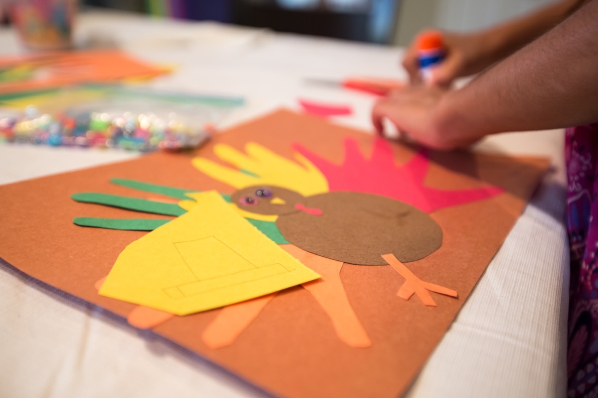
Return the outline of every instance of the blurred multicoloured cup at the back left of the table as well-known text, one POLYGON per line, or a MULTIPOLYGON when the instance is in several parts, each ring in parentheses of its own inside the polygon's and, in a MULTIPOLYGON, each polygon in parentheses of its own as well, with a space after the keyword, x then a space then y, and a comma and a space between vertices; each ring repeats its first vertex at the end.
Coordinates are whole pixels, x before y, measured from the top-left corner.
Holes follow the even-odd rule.
POLYGON ((29 50, 66 50, 73 45, 77 0, 14 0, 13 24, 29 50))

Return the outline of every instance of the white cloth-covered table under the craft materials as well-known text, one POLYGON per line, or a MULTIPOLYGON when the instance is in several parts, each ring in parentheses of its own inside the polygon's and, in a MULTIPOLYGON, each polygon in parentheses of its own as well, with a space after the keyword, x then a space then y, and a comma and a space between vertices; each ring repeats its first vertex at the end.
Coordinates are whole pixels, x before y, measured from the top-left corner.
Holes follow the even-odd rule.
MULTIPOLYGON (((176 66, 152 87, 245 97, 247 106, 222 127, 281 106, 298 109, 297 98, 307 98, 350 104, 354 115, 332 121, 371 131, 372 97, 309 85, 306 79, 405 77, 398 48, 216 23, 87 11, 79 18, 77 41, 89 38, 176 66)), ((14 32, 0 30, 0 53, 19 51, 14 32)), ((408 396, 565 395, 569 267, 562 141, 562 131, 544 131, 498 135, 479 145, 492 152, 551 156, 553 170, 408 396)), ((0 184, 132 156, 0 145, 0 184)), ((0 266, 0 302, 2 397, 263 396, 196 355, 65 299, 11 267, 0 266)))

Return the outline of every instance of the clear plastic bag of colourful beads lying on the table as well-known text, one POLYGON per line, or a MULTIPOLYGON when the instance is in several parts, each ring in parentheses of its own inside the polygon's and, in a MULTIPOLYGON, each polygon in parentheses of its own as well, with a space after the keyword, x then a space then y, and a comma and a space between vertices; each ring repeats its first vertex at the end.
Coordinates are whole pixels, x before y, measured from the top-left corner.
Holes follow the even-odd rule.
POLYGON ((0 96, 0 141, 148 152, 197 147, 242 98, 85 85, 0 96))

